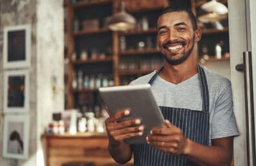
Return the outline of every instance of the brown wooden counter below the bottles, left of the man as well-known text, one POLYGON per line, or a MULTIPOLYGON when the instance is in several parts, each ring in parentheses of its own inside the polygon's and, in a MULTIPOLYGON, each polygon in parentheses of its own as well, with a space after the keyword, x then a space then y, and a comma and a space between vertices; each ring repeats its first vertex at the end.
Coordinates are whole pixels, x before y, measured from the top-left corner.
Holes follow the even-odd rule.
POLYGON ((42 141, 47 166, 118 165, 107 151, 106 133, 43 134, 42 141))

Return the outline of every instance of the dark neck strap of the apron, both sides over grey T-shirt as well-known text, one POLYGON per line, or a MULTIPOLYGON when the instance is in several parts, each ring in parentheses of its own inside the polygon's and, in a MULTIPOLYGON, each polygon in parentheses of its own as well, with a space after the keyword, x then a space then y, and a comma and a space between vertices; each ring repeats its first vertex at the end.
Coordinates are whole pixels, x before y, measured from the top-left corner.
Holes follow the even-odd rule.
MULTIPOLYGON (((158 71, 156 71, 155 75, 151 77, 148 84, 151 84, 152 86, 156 76, 158 75, 158 73, 160 73, 160 71, 162 71, 163 68, 164 66, 162 66, 158 71)), ((208 112, 209 111, 209 90, 208 90, 208 84, 206 80, 206 73, 204 73, 204 69, 198 64, 197 64, 197 70, 199 73, 199 80, 200 80, 200 86, 201 86, 202 111, 208 112)))

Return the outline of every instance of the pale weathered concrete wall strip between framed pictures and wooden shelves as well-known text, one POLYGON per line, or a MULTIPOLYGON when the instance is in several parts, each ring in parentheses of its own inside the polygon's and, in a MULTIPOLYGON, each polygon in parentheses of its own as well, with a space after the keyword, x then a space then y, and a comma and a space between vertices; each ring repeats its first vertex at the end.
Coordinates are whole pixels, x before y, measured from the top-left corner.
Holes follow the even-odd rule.
POLYGON ((43 165, 41 133, 51 113, 64 110, 63 21, 61 0, 37 0, 37 166, 43 165))

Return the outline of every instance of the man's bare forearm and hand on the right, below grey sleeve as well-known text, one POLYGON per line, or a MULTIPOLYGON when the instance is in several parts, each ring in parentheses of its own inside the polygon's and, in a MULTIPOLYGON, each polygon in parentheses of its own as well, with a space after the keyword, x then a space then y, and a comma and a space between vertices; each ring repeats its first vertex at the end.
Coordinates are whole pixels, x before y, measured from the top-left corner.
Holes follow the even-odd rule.
POLYGON ((185 154, 198 165, 229 166, 233 154, 233 137, 212 140, 211 146, 200 145, 184 137, 181 129, 165 121, 147 136, 147 141, 156 149, 169 154, 185 154))

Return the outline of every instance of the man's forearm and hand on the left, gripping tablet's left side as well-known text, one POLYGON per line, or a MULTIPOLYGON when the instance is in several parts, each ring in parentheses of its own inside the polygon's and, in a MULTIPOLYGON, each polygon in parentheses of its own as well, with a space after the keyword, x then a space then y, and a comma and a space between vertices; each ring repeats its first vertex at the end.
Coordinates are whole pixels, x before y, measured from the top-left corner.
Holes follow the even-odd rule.
POLYGON ((129 116, 129 111, 118 111, 114 115, 105 120, 107 133, 109 136, 109 153, 112 158, 118 163, 126 163, 131 160, 133 149, 131 145, 123 142, 126 138, 134 136, 142 136, 144 126, 140 125, 138 119, 124 120, 120 119, 129 116))

